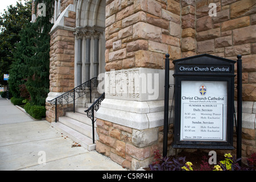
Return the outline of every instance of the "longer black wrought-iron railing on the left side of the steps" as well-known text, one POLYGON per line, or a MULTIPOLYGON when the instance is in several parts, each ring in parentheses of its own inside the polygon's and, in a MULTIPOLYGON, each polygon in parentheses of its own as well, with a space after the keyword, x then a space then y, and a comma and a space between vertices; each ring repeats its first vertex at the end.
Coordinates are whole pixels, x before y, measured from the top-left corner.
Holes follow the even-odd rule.
POLYGON ((59 97, 53 98, 53 100, 48 101, 52 106, 55 107, 55 122, 57 122, 57 109, 63 107, 69 103, 73 103, 73 112, 75 113, 75 100, 90 93, 90 102, 92 102, 92 90, 97 87, 98 80, 94 77, 83 84, 69 90, 68 92, 62 94, 59 97))

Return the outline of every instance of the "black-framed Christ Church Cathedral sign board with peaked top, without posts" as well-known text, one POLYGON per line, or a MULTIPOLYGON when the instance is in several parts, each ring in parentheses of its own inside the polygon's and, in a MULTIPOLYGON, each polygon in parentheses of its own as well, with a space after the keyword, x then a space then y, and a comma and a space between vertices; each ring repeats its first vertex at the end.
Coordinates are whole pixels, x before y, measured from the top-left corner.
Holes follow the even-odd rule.
POLYGON ((233 149, 234 63, 207 54, 174 61, 174 148, 233 149))

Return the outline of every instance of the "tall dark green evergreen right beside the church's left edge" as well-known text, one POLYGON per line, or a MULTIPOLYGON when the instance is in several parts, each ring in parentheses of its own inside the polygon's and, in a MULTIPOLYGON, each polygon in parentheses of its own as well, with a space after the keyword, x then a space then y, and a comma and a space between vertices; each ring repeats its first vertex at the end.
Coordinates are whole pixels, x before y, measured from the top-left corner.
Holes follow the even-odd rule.
POLYGON ((49 92, 49 31, 53 25, 54 1, 36 0, 35 7, 38 3, 46 5, 46 16, 38 16, 34 23, 28 22, 20 31, 21 39, 16 44, 9 84, 15 97, 30 98, 32 105, 44 106, 49 92))

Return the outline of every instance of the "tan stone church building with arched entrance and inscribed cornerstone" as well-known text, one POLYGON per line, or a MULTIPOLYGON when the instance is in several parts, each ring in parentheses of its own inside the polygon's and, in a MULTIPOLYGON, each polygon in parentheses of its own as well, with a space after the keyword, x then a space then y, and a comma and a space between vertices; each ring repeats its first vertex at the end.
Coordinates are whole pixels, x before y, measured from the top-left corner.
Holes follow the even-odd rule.
MULTIPOLYGON (((105 99, 95 111, 96 143, 90 146, 126 168, 145 167, 155 150, 163 150, 166 53, 171 60, 170 84, 172 60, 203 53, 237 60, 240 54, 242 156, 256 152, 254 0, 55 0, 53 23, 46 99, 46 119, 53 127, 63 133, 68 133, 67 127, 76 130, 72 125, 86 117, 84 110, 90 105, 87 94, 76 100, 76 113, 72 103, 61 107, 55 123, 55 106, 49 101, 98 77, 93 101, 103 92, 105 99)), ((172 95, 170 89, 170 105, 172 95)), ((75 135, 74 140, 83 144, 75 135)), ((171 143, 170 133, 168 154, 171 143)))

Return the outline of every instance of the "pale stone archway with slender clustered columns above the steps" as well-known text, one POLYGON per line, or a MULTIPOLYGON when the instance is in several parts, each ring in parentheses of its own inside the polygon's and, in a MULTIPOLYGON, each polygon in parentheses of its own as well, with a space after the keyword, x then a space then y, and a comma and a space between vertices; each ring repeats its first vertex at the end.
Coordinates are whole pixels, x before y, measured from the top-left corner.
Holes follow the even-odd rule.
POLYGON ((75 85, 105 72, 104 0, 76 3, 75 85))

